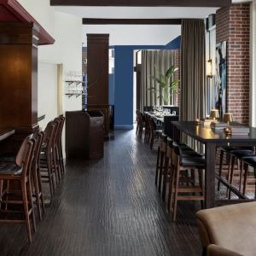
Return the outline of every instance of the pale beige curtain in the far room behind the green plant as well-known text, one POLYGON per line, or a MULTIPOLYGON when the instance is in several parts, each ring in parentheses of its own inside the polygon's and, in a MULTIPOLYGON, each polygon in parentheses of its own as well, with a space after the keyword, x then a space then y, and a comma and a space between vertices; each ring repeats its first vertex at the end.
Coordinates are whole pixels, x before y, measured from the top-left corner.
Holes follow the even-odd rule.
MULTIPOLYGON (((175 51, 174 50, 143 50, 142 51, 142 83, 141 83, 141 101, 140 107, 163 105, 160 85, 155 83, 150 76, 159 77, 156 70, 159 69, 161 73, 166 73, 169 67, 175 65, 175 51), (150 88, 155 88, 152 90, 150 88)), ((174 96, 170 97, 169 104, 173 104, 174 96)))

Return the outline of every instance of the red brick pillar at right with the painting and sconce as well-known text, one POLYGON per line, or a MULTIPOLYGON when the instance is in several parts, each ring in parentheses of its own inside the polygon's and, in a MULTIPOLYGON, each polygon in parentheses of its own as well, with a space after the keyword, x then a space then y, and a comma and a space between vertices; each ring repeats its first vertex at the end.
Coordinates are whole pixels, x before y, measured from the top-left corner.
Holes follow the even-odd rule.
POLYGON ((227 41, 227 111, 249 123, 250 5, 218 9, 216 42, 227 41))

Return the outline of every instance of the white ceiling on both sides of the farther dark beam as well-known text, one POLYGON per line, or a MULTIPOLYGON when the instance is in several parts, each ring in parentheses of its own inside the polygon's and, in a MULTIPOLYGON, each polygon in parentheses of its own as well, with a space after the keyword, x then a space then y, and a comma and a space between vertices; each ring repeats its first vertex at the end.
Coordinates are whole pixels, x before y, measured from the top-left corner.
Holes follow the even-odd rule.
MULTIPOLYGON (((244 0, 233 0, 241 1, 244 0)), ((217 8, 57 6, 55 10, 80 18, 203 19, 214 14, 217 8)), ((84 25, 82 33, 85 45, 86 33, 109 33, 110 45, 165 45, 180 35, 180 29, 170 25, 84 25)))

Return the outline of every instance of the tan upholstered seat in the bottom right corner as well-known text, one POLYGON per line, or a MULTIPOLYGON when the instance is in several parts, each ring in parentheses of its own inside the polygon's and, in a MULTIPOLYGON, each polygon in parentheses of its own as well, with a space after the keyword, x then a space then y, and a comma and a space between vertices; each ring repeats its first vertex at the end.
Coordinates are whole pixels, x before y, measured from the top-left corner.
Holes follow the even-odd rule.
POLYGON ((201 210, 196 217, 204 255, 256 255, 256 202, 201 210))

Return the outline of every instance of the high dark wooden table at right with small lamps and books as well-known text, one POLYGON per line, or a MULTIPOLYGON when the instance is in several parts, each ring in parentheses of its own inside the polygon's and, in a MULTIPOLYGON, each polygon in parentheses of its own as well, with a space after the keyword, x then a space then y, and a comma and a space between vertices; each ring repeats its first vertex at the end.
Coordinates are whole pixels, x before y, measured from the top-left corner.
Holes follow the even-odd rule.
MULTIPOLYGON (((256 145, 256 128, 249 127, 250 133, 245 136, 234 135, 226 136, 223 130, 213 131, 210 127, 197 125, 195 121, 177 121, 172 122, 172 125, 183 134, 194 138, 205 145, 205 207, 212 208, 216 206, 215 200, 215 178, 218 177, 216 173, 216 148, 218 147, 241 147, 241 146, 255 146, 256 145)), ((230 123, 232 125, 232 123, 230 123)), ((221 183, 224 183, 233 193, 238 195, 241 201, 246 201, 247 198, 234 187, 227 183, 224 178, 218 177, 221 183)), ((239 200, 238 200, 239 201, 239 200)), ((223 202, 218 201, 219 204, 223 202)))

